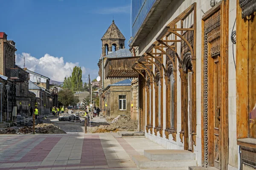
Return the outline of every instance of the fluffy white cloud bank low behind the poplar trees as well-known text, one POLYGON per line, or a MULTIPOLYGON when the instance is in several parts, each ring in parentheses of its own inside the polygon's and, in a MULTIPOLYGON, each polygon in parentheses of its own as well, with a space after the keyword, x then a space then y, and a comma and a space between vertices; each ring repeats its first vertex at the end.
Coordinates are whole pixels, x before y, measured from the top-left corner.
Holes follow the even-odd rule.
MULTIPOLYGON (((16 64, 23 67, 25 57, 25 65, 30 71, 42 74, 52 80, 63 82, 64 77, 71 76, 73 68, 79 66, 79 62, 64 62, 63 57, 53 57, 45 54, 44 57, 36 58, 28 53, 16 54, 16 64)), ((95 63, 96 65, 96 63, 95 63)), ((87 82, 85 78, 90 77, 94 79, 98 76, 98 70, 91 70, 81 66, 83 82, 87 82)))

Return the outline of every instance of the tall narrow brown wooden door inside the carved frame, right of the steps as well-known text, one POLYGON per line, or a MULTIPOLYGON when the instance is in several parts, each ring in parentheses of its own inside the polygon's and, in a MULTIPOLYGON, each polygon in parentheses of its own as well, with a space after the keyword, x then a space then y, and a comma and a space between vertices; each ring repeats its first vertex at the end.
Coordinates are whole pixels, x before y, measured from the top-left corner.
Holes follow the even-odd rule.
POLYGON ((220 120, 221 120, 221 70, 220 57, 213 57, 213 144, 214 144, 214 167, 220 168, 220 120))

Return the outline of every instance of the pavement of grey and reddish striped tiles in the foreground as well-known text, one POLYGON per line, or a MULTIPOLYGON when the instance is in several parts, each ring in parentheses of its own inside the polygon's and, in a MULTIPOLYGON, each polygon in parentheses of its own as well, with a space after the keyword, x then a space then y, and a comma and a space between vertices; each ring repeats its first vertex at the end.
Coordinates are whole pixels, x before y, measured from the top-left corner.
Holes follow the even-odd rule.
POLYGON ((0 170, 138 170, 144 149, 164 148, 116 133, 1 135, 0 170))

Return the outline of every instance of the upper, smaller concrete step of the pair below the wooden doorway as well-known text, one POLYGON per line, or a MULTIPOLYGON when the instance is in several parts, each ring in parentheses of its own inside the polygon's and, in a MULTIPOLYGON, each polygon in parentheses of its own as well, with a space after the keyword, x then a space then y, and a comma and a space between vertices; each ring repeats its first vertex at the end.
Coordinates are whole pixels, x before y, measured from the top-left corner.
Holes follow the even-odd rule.
POLYGON ((144 150, 144 156, 151 161, 195 160, 195 153, 188 150, 144 150))

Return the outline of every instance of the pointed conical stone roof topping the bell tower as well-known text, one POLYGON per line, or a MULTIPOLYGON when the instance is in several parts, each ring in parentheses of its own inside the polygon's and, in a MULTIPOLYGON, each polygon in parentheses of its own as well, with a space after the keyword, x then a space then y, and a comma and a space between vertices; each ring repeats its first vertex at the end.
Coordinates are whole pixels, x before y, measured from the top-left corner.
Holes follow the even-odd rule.
POLYGON ((119 28, 116 26, 114 20, 112 21, 112 24, 108 27, 108 30, 103 35, 101 40, 108 40, 108 39, 121 39, 125 40, 124 35, 121 33, 119 28))

